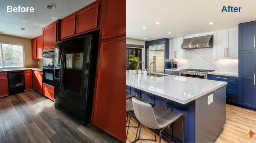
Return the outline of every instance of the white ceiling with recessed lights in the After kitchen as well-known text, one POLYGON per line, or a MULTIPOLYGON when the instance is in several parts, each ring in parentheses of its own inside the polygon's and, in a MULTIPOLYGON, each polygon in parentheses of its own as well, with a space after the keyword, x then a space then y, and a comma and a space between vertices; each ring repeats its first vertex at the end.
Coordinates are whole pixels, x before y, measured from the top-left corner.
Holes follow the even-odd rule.
POLYGON ((126 37, 152 40, 238 27, 256 20, 255 6, 256 0, 126 0, 126 37), (222 13, 229 5, 241 12, 222 13))

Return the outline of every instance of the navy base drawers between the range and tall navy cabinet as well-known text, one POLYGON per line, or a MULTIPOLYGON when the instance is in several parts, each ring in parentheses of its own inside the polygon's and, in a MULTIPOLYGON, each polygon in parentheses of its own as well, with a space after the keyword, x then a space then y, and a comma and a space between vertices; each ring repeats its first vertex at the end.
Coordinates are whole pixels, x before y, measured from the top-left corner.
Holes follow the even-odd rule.
POLYGON ((239 103, 239 85, 238 85, 238 77, 236 76, 222 76, 222 75, 212 75, 208 74, 208 79, 216 80, 216 81, 225 81, 227 82, 226 87, 226 101, 227 103, 239 103))

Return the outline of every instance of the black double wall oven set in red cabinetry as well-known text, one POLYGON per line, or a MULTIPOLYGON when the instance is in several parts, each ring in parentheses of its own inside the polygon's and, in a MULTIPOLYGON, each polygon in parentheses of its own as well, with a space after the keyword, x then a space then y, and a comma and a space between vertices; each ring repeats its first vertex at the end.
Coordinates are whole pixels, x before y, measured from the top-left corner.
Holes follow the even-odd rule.
POLYGON ((43 82, 54 86, 54 51, 43 53, 43 82))

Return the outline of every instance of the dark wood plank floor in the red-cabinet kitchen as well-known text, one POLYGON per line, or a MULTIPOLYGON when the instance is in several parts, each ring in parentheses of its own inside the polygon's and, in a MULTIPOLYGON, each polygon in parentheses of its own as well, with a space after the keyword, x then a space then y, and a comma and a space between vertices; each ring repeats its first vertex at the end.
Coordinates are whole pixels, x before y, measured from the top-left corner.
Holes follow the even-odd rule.
POLYGON ((0 98, 0 143, 121 143, 101 129, 55 109, 36 91, 0 98))

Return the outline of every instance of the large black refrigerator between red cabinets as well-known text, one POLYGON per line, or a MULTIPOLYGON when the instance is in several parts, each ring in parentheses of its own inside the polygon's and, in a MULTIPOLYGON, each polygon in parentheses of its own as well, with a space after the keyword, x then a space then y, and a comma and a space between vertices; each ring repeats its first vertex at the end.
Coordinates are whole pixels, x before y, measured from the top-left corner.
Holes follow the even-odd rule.
POLYGON ((98 43, 98 34, 55 43, 55 108, 83 125, 91 118, 98 43))

